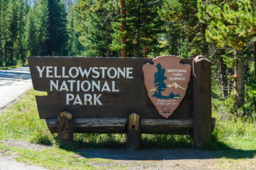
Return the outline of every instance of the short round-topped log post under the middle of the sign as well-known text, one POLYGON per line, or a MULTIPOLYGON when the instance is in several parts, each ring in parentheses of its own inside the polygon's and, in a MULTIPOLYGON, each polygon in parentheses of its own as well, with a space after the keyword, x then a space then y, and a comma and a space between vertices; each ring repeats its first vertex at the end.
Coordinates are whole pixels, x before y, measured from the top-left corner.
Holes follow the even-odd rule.
POLYGON ((141 120, 136 113, 132 113, 128 118, 127 148, 141 150, 141 120))

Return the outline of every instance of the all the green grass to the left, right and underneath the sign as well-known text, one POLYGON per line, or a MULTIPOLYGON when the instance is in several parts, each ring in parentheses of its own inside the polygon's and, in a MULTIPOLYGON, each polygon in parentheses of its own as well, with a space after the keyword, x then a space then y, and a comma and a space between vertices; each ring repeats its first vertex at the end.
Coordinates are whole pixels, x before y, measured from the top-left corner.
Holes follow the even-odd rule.
MULTIPOLYGON (((252 119, 244 120, 239 117, 241 110, 233 109, 232 97, 221 99, 218 89, 214 89, 213 93, 215 96, 213 95, 212 99, 212 115, 216 117, 216 127, 212 133, 212 141, 205 143, 204 149, 213 150, 214 157, 220 158, 220 168, 223 168, 223 164, 227 164, 228 169, 236 169, 241 167, 240 164, 243 162, 249 162, 248 164, 250 161, 256 162, 255 122, 252 119)), ((46 93, 30 90, 0 114, 0 140, 19 139, 51 145, 52 148, 34 151, 6 146, 0 142, 0 152, 10 150, 20 156, 16 158, 18 161, 49 169, 64 167, 94 169, 95 167, 90 165, 92 162, 111 162, 111 160, 86 158, 84 156, 86 153, 79 152, 81 148, 125 148, 126 134, 75 134, 74 148, 61 149, 56 134, 50 134, 45 121, 38 117, 35 95, 46 95, 46 93)), ((193 139, 189 134, 143 134, 142 146, 143 148, 193 148, 193 139)))

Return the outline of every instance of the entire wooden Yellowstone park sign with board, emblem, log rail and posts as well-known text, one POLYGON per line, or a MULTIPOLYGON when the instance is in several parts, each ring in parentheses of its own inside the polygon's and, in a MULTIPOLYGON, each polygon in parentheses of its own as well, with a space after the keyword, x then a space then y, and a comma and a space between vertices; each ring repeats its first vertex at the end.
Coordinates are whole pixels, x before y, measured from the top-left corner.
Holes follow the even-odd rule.
POLYGON ((205 57, 156 59, 28 57, 40 118, 63 143, 73 133, 127 132, 127 147, 141 148, 141 133, 193 132, 195 146, 211 139, 211 62, 205 57))

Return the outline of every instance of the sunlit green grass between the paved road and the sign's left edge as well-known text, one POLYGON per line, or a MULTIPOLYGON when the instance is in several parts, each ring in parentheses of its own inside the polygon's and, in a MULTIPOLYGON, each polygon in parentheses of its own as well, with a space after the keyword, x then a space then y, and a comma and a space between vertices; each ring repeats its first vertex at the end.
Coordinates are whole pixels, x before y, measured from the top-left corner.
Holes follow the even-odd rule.
POLYGON ((17 103, 3 110, 0 115, 0 139, 23 139, 31 141, 38 134, 49 134, 44 120, 38 118, 36 95, 44 92, 29 91, 17 103))

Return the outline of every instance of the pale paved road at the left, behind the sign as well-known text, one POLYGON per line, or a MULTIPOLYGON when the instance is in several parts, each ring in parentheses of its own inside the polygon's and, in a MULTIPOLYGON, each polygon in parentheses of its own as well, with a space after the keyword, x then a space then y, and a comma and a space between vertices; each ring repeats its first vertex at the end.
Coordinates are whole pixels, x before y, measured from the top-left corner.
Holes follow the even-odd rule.
POLYGON ((29 67, 0 71, 0 112, 32 88, 29 67))

